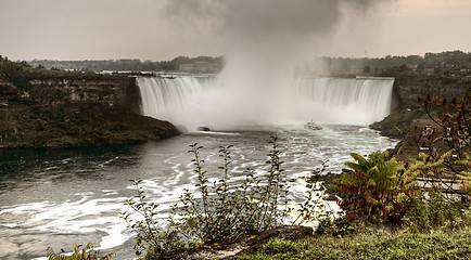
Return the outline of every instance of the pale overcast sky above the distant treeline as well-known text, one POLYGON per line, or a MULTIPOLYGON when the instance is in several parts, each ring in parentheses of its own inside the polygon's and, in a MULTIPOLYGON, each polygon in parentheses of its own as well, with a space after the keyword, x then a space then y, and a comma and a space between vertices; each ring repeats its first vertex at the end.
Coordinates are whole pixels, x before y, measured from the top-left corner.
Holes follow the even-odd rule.
POLYGON ((471 52, 470 25, 471 0, 0 0, 0 55, 162 61, 276 35, 306 55, 423 55, 471 52))

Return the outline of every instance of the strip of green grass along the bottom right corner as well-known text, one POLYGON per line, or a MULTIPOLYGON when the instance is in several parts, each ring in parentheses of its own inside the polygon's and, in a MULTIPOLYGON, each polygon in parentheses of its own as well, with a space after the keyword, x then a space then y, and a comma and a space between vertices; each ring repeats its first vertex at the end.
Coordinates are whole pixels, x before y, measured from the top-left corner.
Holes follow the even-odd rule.
POLYGON ((345 237, 270 240, 244 260, 264 259, 471 259, 471 226, 412 233, 362 231, 345 237))

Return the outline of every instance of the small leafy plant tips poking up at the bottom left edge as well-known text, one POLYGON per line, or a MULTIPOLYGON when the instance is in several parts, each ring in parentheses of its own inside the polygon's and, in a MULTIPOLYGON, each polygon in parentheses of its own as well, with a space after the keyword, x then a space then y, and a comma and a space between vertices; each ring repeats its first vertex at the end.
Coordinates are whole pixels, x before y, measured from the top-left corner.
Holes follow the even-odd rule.
MULTIPOLYGON (((55 253, 51 247, 46 250, 49 260, 109 260, 114 252, 107 253, 100 258, 100 250, 93 250, 93 244, 89 243, 85 247, 82 245, 75 244, 74 252, 71 256, 63 253, 55 253)), ((64 252, 63 249, 61 249, 64 252)))

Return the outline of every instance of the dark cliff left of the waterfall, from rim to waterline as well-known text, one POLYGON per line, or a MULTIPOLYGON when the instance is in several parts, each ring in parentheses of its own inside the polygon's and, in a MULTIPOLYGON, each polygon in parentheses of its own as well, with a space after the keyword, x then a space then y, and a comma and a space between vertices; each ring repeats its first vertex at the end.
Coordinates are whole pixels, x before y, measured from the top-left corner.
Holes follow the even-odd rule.
POLYGON ((0 147, 136 143, 179 134, 144 117, 136 79, 122 76, 0 79, 0 147))

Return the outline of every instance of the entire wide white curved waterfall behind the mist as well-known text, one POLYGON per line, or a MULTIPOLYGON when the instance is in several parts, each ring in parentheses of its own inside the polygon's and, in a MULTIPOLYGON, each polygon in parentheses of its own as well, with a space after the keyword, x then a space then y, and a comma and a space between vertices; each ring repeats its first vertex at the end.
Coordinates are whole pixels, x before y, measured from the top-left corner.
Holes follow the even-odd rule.
MULTIPOLYGON (((393 78, 297 77, 283 93, 247 96, 221 79, 181 76, 140 77, 142 114, 193 130, 253 125, 319 123, 365 126, 381 120, 391 109, 393 78), (257 102, 258 106, 250 103, 257 102), (266 106, 263 110, 257 107, 266 106)), ((251 94, 251 92, 249 92, 251 94)))

